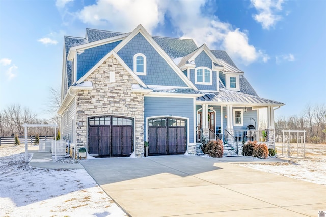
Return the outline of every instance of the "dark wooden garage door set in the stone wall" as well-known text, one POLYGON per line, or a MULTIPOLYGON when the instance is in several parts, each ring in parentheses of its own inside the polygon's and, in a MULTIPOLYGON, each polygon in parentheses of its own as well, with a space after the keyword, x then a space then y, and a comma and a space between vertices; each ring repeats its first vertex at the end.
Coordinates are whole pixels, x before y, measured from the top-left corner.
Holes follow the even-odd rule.
POLYGON ((133 118, 90 117, 88 126, 88 153, 92 156, 123 157, 133 152, 133 118))

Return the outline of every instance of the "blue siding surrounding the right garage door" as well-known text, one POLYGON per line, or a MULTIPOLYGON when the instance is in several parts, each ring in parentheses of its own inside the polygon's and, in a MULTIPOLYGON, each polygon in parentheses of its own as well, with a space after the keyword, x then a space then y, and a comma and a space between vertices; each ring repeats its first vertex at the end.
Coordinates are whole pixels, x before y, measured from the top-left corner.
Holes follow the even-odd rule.
POLYGON ((152 116, 180 116, 189 121, 189 143, 194 142, 194 101, 193 98, 145 97, 145 138, 147 138, 146 118, 152 116))

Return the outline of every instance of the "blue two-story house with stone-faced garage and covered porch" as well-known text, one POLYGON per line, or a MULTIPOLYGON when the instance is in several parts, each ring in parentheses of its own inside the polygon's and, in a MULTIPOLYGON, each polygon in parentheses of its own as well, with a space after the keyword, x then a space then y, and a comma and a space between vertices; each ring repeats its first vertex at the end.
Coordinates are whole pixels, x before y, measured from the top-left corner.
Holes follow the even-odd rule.
POLYGON ((274 110, 284 105, 259 97, 225 51, 142 25, 65 36, 61 93, 62 136, 99 157, 143 157, 144 141, 149 154, 196 154, 218 137, 236 153, 242 140, 273 146, 274 110), (260 108, 267 129, 258 130, 260 108))

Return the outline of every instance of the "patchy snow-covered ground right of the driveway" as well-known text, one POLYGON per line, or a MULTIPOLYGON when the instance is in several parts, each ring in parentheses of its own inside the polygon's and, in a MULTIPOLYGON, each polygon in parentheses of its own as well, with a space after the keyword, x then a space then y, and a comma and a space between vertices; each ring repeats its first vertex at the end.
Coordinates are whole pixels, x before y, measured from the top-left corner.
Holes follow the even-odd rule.
MULTIPOLYGON (((282 153, 282 144, 276 144, 276 148, 279 153, 282 153)), ((297 156, 296 154, 292 154, 291 158, 280 154, 278 154, 278 157, 288 159, 288 161, 240 165, 298 180, 326 185, 325 144, 306 144, 305 157, 297 156)))

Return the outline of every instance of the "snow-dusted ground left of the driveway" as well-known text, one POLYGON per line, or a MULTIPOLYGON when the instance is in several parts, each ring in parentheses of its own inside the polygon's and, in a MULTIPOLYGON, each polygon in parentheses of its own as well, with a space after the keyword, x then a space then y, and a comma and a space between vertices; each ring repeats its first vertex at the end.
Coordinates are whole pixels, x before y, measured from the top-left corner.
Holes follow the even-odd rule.
POLYGON ((127 216, 86 170, 31 167, 21 152, 0 146, 0 216, 127 216))

